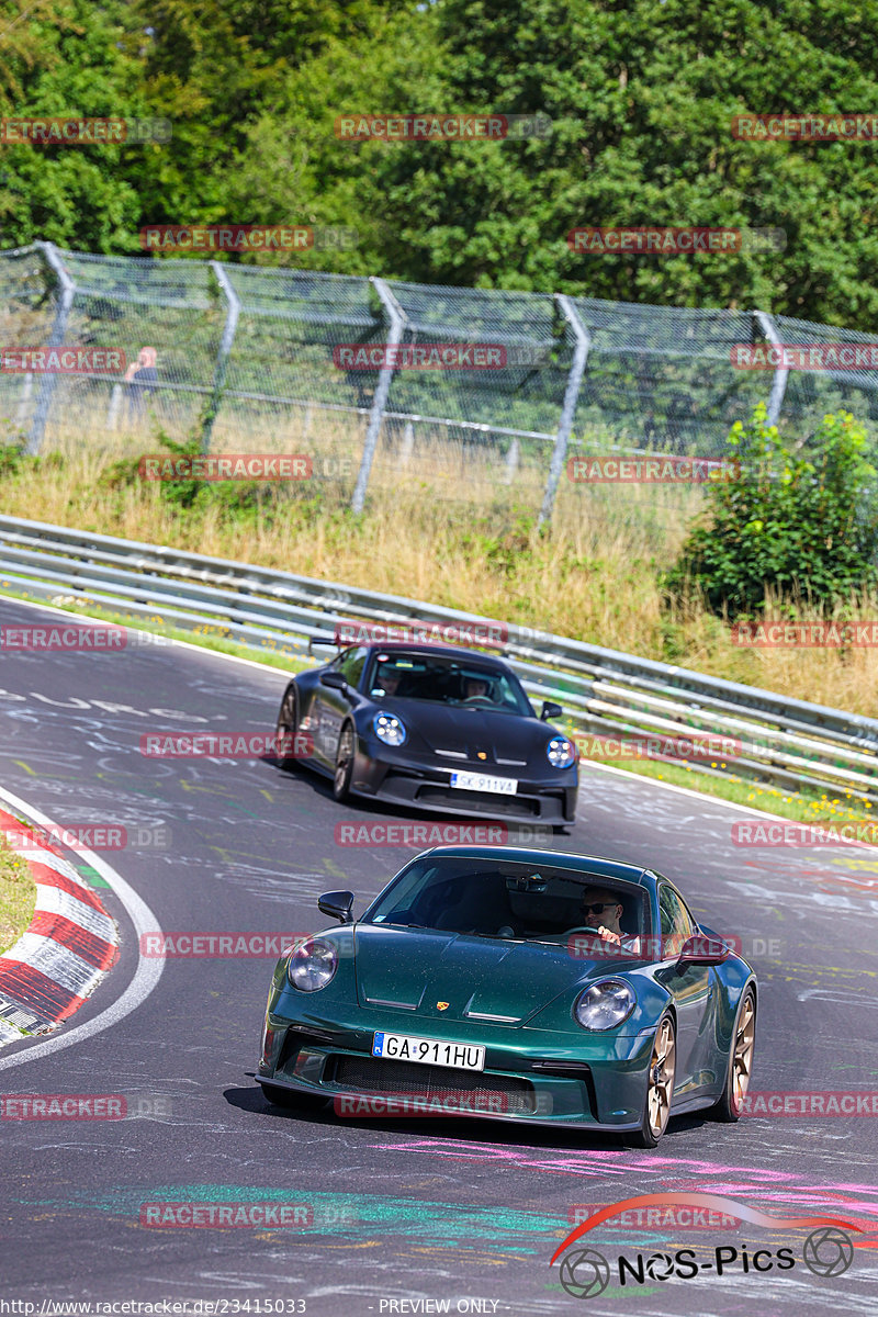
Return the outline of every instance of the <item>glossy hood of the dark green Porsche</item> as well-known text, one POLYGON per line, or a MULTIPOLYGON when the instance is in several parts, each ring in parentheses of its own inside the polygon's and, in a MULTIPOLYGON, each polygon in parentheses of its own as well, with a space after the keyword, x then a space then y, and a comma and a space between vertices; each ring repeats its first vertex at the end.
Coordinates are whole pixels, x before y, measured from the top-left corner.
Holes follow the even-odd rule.
POLYGON ((577 960, 566 947, 428 928, 357 925, 354 948, 362 1006, 428 1019, 523 1025, 561 993, 607 976, 606 960, 577 960))

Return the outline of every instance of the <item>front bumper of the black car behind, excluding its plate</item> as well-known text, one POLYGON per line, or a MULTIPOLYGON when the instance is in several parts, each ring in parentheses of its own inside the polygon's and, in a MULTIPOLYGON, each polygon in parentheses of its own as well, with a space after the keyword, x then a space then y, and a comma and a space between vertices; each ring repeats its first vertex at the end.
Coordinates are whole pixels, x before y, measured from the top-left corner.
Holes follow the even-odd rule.
POLYGON ((483 814, 492 819, 513 819, 524 823, 573 823, 577 814, 577 768, 567 768, 561 774, 546 772, 541 780, 517 778, 515 795, 502 795, 492 792, 462 792, 450 785, 450 774, 455 770, 471 773, 495 773, 512 777, 508 770, 500 772, 496 765, 486 763, 459 763, 440 768, 433 760, 405 759, 396 753, 394 759, 383 759, 371 745, 361 745, 354 765, 351 792, 355 795, 369 795, 391 805, 409 809, 429 810, 436 814, 467 815, 483 814), (369 753, 369 751, 373 753, 369 753))

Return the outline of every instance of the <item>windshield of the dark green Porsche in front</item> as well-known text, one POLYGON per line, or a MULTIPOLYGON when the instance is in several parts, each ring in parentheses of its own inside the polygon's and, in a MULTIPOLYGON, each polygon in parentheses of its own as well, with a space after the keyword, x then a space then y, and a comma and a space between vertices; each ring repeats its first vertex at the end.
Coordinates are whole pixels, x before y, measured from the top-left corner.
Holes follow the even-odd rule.
POLYGON ((648 938, 649 898, 636 884, 550 864, 425 856, 382 892, 363 922, 563 946, 573 930, 611 922, 619 905, 620 934, 648 938), (603 902, 612 913, 594 911, 603 902))

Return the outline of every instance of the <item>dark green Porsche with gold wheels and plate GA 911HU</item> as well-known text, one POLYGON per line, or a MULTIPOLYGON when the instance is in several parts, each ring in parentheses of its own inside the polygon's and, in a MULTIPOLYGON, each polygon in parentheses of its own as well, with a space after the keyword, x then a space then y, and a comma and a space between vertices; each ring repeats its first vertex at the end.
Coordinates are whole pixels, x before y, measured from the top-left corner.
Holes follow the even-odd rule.
POLYGON ((283 1106, 477 1114, 624 1134, 736 1121, 753 1064, 750 965, 673 882, 592 856, 442 847, 274 972, 257 1079, 283 1106))

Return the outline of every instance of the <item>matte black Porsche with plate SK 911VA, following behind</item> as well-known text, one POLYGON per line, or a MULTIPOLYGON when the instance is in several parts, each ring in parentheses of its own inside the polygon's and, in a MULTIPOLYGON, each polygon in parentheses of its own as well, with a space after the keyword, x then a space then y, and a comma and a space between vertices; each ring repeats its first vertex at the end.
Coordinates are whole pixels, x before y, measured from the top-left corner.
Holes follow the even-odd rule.
POLYGON ((296 676, 278 715, 278 760, 374 797, 442 814, 563 826, 577 809, 577 749, 536 715, 502 658, 453 645, 367 644, 296 676), (296 738, 307 745, 296 755, 296 738), (291 752, 294 751, 294 752, 291 752))

